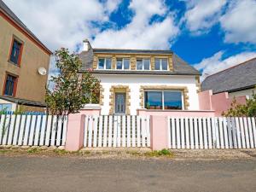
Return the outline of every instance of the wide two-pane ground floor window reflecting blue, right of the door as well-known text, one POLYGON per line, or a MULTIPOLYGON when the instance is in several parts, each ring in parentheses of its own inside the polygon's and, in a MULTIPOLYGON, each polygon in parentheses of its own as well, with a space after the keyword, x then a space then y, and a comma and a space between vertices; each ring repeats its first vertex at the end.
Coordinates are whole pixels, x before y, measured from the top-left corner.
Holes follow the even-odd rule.
POLYGON ((181 90, 146 90, 144 108, 183 109, 183 93, 181 90))

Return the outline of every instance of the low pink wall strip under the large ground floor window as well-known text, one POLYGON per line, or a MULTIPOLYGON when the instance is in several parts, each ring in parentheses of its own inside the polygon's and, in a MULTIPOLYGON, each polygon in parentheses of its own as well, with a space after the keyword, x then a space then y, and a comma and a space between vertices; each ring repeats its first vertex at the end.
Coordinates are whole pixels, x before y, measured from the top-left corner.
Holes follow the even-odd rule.
POLYGON ((212 110, 150 110, 137 109, 138 115, 157 115, 157 116, 172 116, 172 117, 214 117, 215 113, 212 110))

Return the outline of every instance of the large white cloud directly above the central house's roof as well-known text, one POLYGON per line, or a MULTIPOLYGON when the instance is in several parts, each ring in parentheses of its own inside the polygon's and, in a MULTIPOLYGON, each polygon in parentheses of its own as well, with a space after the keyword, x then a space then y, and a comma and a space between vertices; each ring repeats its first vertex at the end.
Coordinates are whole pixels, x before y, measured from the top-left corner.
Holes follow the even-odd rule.
POLYGON ((161 0, 131 1, 129 9, 134 12, 131 22, 120 30, 109 29, 96 34, 92 45, 105 48, 169 49, 179 32, 174 15, 167 13, 161 0), (161 21, 150 23, 158 15, 161 21))

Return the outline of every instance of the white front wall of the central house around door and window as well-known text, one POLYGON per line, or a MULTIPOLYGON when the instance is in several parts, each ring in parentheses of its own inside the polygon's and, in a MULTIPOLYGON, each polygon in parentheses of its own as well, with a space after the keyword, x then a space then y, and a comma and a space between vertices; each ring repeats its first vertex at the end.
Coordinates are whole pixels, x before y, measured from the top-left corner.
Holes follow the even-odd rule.
POLYGON ((104 100, 102 106, 102 114, 109 113, 109 96, 110 88, 112 85, 128 85, 131 89, 131 114, 137 114, 137 108, 140 108, 140 86, 142 85, 169 85, 169 86, 186 86, 189 90, 189 110, 198 110, 198 94, 196 90, 195 76, 159 76, 159 75, 95 75, 96 78, 101 80, 102 87, 104 88, 104 100))

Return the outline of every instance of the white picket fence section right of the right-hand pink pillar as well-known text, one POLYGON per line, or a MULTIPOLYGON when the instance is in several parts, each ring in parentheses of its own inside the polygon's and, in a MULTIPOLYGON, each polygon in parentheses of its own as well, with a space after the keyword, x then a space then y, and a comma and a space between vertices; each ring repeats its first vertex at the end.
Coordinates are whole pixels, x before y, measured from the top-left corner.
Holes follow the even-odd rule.
POLYGON ((255 118, 168 117, 169 148, 256 148, 255 118))

